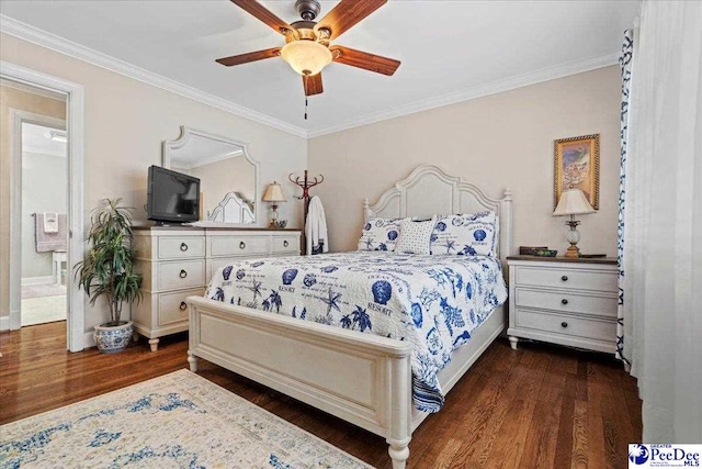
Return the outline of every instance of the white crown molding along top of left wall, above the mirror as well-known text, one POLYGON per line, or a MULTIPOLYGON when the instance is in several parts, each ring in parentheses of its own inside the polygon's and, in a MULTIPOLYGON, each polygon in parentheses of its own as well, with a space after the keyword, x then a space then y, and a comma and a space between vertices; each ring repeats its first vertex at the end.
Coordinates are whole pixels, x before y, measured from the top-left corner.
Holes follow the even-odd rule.
POLYGON ((18 21, 13 18, 0 14, 0 32, 18 37, 20 40, 39 45, 42 47, 56 51, 58 53, 78 58, 98 67, 124 75, 147 85, 160 88, 166 91, 192 99, 203 104, 217 108, 231 114, 249 119, 253 122, 278 129, 283 132, 306 138, 308 135, 305 129, 288 124, 270 115, 263 114, 240 104, 217 98, 196 88, 183 85, 161 75, 154 74, 144 68, 137 67, 118 58, 86 47, 65 37, 49 33, 38 27, 18 21))

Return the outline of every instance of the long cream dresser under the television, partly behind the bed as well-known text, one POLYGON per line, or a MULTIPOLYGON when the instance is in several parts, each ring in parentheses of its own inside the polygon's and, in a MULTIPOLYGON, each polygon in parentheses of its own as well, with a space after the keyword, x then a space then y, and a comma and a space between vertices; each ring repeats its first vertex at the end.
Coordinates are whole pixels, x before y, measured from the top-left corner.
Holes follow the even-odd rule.
POLYGON ((152 226, 134 228, 144 298, 132 308, 135 333, 159 337, 188 331, 185 299, 202 297, 219 267, 246 258, 298 256, 301 232, 267 228, 152 226))

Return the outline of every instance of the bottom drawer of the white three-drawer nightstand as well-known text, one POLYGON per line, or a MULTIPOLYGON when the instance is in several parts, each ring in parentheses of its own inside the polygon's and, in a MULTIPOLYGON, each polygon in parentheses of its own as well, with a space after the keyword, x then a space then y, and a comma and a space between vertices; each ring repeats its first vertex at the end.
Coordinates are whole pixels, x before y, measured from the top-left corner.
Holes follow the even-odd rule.
POLYGON ((616 321, 589 320, 519 309, 516 313, 517 327, 605 340, 612 344, 616 339, 616 321))

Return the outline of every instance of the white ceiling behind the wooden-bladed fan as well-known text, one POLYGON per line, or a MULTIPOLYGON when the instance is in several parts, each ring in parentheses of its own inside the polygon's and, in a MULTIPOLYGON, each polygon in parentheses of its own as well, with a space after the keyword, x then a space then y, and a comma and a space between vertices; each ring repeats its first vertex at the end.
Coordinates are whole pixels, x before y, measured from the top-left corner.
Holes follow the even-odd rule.
MULTIPOLYGON (((294 0, 261 3, 299 19, 294 0)), ((338 1, 320 3, 319 18, 338 1)), ((638 0, 390 0, 333 44, 401 60, 395 76, 332 63, 305 121, 302 79, 281 58, 214 62, 284 43, 229 1, 0 1, 2 15, 306 136, 614 64, 638 9, 638 0)))

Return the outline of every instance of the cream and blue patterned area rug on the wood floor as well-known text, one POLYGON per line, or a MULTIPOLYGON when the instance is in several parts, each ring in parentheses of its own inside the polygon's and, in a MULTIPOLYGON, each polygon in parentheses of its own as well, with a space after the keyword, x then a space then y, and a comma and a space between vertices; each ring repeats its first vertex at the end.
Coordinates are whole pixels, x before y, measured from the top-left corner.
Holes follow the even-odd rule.
POLYGON ((188 370, 0 426, 0 467, 370 468, 188 370))

